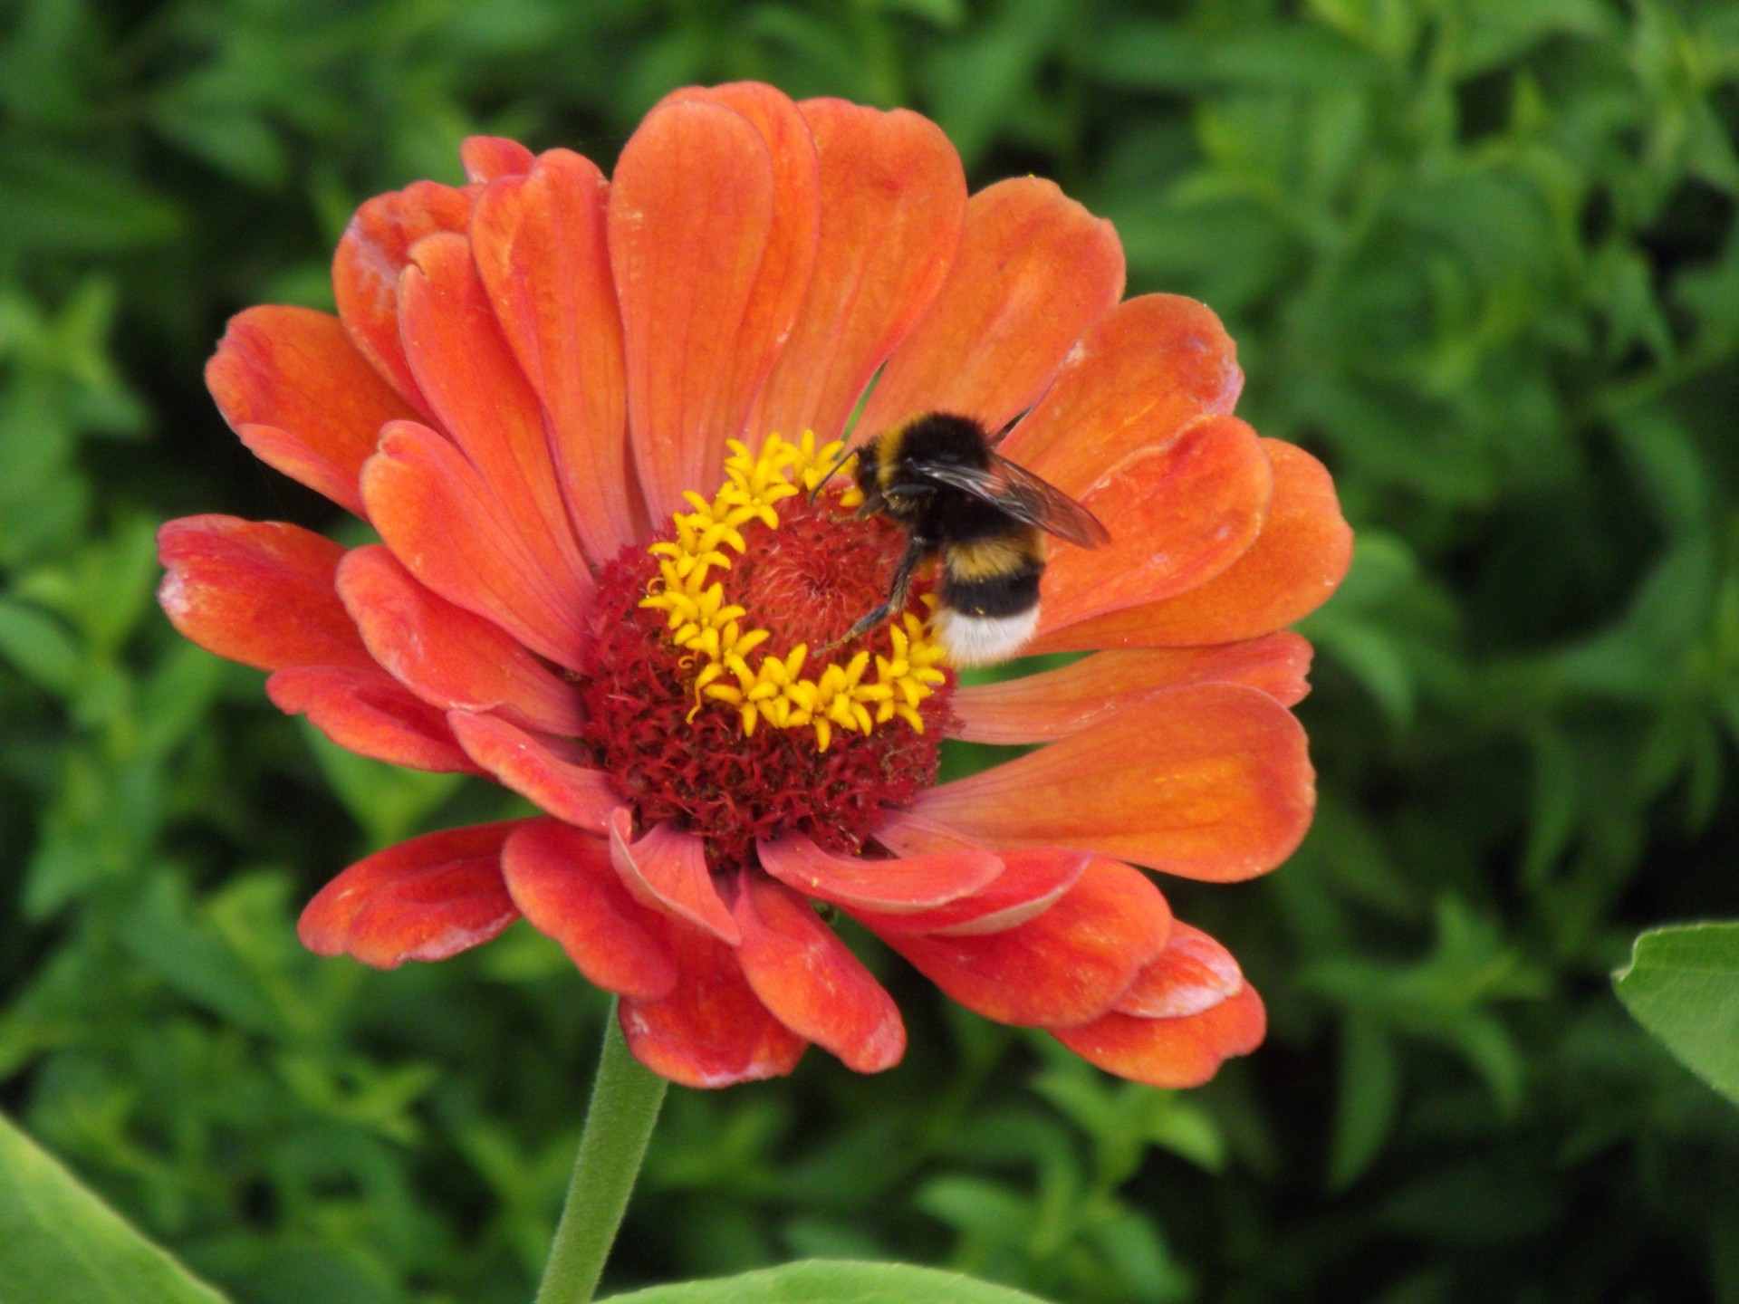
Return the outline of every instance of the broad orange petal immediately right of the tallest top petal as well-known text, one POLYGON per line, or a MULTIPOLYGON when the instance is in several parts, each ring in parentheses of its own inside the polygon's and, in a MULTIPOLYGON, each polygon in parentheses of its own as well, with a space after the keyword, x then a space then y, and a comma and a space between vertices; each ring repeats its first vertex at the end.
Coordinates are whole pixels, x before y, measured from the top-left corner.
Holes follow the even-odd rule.
POLYGON ((960 245, 967 181, 916 113, 805 99, 821 160, 821 247, 791 337, 750 429, 826 443, 845 431, 887 355, 936 297, 960 245))

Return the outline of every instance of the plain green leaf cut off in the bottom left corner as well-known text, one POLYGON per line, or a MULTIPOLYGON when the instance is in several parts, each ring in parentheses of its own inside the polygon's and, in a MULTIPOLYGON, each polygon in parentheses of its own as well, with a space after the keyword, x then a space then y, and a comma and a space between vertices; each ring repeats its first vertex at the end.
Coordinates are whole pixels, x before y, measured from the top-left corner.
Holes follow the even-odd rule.
MULTIPOLYGON (((0 1116, 0 1281, 7 1304, 221 1304, 0 1116)), ((1012 1299, 1012 1297, 1010 1297, 1012 1299)))

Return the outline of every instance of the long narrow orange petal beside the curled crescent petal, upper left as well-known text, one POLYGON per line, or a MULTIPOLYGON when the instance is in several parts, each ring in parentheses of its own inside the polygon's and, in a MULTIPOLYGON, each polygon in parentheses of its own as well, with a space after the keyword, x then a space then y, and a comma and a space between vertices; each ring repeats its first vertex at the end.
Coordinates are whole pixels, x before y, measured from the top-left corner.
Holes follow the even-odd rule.
POLYGON ((591 570, 556 483, 543 407, 508 348, 463 235, 410 250, 398 285, 410 370, 551 577, 590 598, 591 570))

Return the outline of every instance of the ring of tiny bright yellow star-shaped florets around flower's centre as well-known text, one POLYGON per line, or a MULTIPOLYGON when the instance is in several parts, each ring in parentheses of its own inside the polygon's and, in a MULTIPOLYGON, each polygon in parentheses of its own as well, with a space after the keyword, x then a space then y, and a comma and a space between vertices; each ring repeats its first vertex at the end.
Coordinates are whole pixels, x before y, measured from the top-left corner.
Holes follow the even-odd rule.
MULTIPOLYGON (((675 515, 675 539, 652 544, 659 574, 640 605, 664 612, 671 643, 683 649, 683 661, 697 668, 690 720, 710 702, 722 702, 737 713, 744 737, 756 725, 814 729, 821 751, 831 746, 836 729, 870 734, 876 725, 899 718, 923 732, 918 704, 946 680, 939 669, 944 652, 930 636, 929 621, 906 612, 899 622, 889 624, 890 655, 873 657, 873 680, 868 652, 857 652, 843 666, 821 666, 810 676, 803 675, 809 659, 805 643, 784 657, 767 654, 751 664, 750 652, 772 635, 744 629, 741 621, 748 612, 729 600, 722 581, 708 582, 715 570, 730 570, 729 553, 748 551, 741 527, 760 522, 777 530, 774 504, 812 492, 843 447, 835 442, 817 449, 810 431, 803 433, 802 443, 769 435, 758 454, 730 440, 723 487, 711 502, 683 492, 694 511, 675 515)), ((840 469, 849 485, 840 506, 850 509, 863 502, 863 494, 850 480, 850 464, 840 469)), ((925 595, 925 603, 934 609, 936 600, 925 595)))

